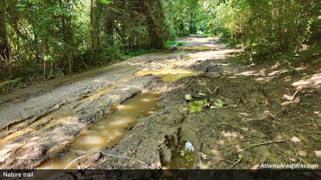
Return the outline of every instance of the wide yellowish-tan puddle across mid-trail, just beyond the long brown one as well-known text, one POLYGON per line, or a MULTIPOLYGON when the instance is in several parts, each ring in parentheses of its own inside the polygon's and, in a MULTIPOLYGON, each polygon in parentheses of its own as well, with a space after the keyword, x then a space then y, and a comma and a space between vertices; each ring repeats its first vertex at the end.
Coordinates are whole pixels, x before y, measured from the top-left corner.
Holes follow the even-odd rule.
POLYGON ((163 81, 176 81, 183 77, 199 75, 201 72, 180 69, 142 70, 135 72, 134 76, 145 76, 148 74, 161 77, 163 81))

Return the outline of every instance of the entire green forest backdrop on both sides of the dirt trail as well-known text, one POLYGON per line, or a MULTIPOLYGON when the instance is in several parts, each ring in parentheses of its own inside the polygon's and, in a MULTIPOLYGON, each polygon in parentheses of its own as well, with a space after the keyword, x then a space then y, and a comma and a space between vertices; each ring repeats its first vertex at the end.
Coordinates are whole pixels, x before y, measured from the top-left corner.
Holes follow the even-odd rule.
MULTIPOLYGON (((318 0, 3 0, 0 81, 7 89, 108 65, 199 33, 238 59, 320 61, 318 0)), ((4 91, 4 87, 0 87, 4 91)))

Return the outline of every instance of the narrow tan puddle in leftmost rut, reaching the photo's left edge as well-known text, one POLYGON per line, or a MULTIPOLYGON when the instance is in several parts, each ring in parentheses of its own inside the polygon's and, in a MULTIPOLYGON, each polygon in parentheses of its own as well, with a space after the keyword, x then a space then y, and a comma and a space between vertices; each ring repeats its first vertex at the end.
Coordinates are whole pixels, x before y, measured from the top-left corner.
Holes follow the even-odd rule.
POLYGON ((16 138, 17 136, 21 135, 22 133, 24 133, 25 131, 27 131, 28 129, 30 128, 33 128, 33 127, 36 127, 37 125, 47 121, 47 120, 50 120, 49 123, 47 123, 44 127, 42 128, 49 128, 51 126, 54 126, 56 124, 59 124, 59 123, 62 123, 64 122, 65 120, 67 120, 71 115, 73 115, 75 112, 72 111, 72 112, 69 112, 67 114, 51 114, 51 115, 48 115, 44 118, 41 118, 35 122, 33 122, 32 124, 30 124, 28 127, 25 127, 19 131, 16 131, 15 133, 12 133, 11 135, 8 135, 6 137, 4 137, 3 139, 0 140, 0 146, 3 146, 5 143, 8 143, 10 142, 12 139, 16 138))

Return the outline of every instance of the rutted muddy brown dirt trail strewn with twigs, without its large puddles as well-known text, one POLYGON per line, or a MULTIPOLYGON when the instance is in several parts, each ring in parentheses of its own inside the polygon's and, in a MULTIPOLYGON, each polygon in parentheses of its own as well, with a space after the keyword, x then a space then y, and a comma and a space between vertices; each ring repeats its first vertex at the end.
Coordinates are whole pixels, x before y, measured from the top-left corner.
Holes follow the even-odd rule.
MULTIPOLYGON (((179 40, 185 45, 178 50, 144 54, 108 68, 44 82, 1 97, 0 168, 36 168, 68 150, 76 137, 100 119, 101 112, 106 113, 111 106, 147 91, 160 91, 157 104, 161 109, 148 118, 140 118, 117 146, 101 151, 134 157, 152 168, 162 168, 162 163, 179 153, 180 142, 188 140, 195 148, 192 168, 226 169, 232 165, 206 155, 233 162, 242 157, 233 168, 258 168, 263 162, 289 163, 289 150, 291 162, 298 163, 300 158, 306 164, 320 165, 321 76, 318 73, 307 72, 305 77, 297 79, 282 73, 280 67, 238 65, 228 58, 227 53, 234 50, 219 45, 217 39, 191 36, 179 40), (160 69, 203 73, 174 82, 152 75, 133 75, 139 70, 160 69), (299 85, 302 89, 288 106, 299 85), (213 101, 222 102, 223 107, 189 112, 182 92, 210 94, 209 90, 215 97, 213 101), (99 95, 92 96, 95 94, 99 95), (39 124, 30 127, 34 122, 39 124), (3 141, 22 129, 24 132, 11 141, 3 141), (259 145, 238 153, 269 140, 286 142, 259 145), (299 158, 291 149, 292 141, 299 158), (36 160, 17 160, 17 157, 36 160)), ((103 155, 90 162, 96 166, 83 164, 82 167, 120 168, 124 164, 137 164, 103 155)), ((126 168, 147 167, 137 164, 126 168)))

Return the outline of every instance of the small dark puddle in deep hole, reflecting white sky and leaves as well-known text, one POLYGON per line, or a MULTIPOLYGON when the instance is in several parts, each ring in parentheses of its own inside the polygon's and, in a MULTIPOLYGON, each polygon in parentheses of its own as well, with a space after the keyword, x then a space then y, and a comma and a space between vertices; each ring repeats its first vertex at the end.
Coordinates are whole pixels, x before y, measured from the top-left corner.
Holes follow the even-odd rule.
POLYGON ((191 169, 194 163, 195 148, 188 141, 182 141, 170 162, 162 162, 162 169, 191 169))

